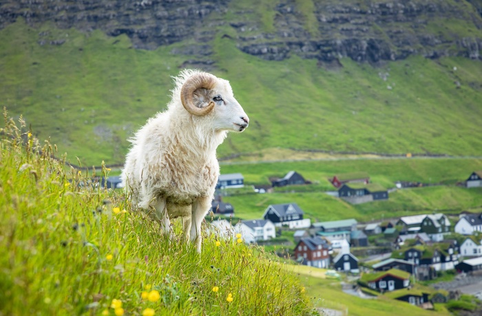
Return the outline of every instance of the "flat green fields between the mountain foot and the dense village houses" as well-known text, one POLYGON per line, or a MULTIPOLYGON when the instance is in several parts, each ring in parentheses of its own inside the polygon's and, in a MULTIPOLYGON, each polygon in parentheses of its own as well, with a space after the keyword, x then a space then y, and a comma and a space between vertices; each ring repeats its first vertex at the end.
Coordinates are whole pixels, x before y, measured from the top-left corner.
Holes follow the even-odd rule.
POLYGON ((482 190, 455 185, 465 181, 472 170, 480 170, 480 159, 348 159, 339 161, 291 161, 277 163, 224 164, 222 173, 241 172, 249 184, 269 184, 269 177, 283 177, 296 170, 311 185, 294 185, 277 188, 271 194, 240 194, 224 196, 232 203, 240 218, 260 218, 270 204, 297 203, 312 221, 331 221, 357 218, 370 221, 379 218, 408 216, 422 213, 445 212, 457 214, 463 210, 482 210, 482 190), (441 183, 443 185, 397 190, 389 194, 388 201, 374 201, 351 205, 328 196, 335 190, 328 182, 334 174, 368 172, 371 181, 394 188, 395 181, 441 183))

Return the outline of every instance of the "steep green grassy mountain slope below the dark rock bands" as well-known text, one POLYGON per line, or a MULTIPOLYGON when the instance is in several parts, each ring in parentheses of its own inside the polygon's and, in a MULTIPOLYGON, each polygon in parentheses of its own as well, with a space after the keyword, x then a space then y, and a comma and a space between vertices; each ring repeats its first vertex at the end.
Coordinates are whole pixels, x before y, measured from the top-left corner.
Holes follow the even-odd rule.
MULTIPOLYGON (((260 60, 235 47, 233 30, 217 32, 213 72, 231 80, 251 118, 245 133, 220 146, 220 157, 278 147, 481 153, 480 61, 412 57, 373 68, 342 59, 343 67, 326 70, 295 56, 260 60)), ((190 58, 171 54, 174 47, 136 50, 124 36, 19 20, 0 30, 2 104, 72 160, 122 163, 127 137, 164 109, 169 76, 190 58)))

